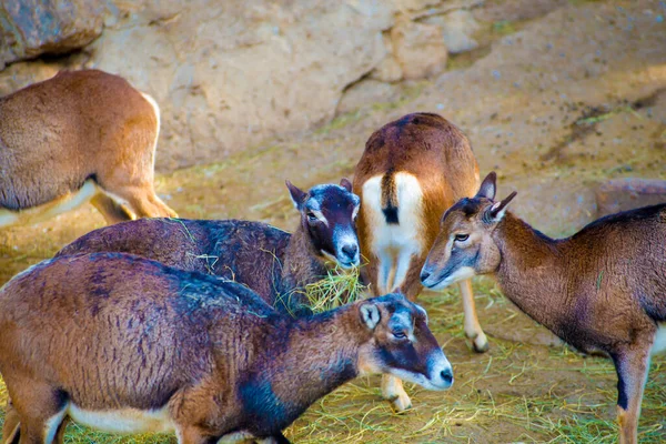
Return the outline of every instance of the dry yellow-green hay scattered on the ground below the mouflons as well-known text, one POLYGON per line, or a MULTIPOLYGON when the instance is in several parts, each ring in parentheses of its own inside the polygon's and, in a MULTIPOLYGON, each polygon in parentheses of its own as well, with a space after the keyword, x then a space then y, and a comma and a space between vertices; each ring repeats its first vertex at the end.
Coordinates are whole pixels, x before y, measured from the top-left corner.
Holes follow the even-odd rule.
MULTIPOLYGON (((482 325, 539 331, 490 279, 474 283, 482 325)), ((472 352, 463 333, 457 290, 424 293, 431 329, 454 365, 446 392, 406 384, 414 407, 392 412, 380 379, 347 383, 316 402, 286 430, 297 443, 615 443, 615 371, 609 361, 566 346, 490 336, 491 351, 472 352)), ((643 400, 639 440, 666 441, 664 359, 655 359, 643 400)), ((0 403, 7 392, 0 385, 0 403)), ((68 443, 175 443, 171 435, 119 436, 70 424, 68 443)))

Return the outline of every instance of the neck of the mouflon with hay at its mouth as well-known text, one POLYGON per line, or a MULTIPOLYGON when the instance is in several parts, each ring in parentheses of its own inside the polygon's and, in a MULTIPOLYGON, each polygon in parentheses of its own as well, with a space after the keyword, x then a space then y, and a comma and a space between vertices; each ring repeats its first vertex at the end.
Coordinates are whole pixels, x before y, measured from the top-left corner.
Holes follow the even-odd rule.
POLYGON ((302 290, 305 285, 326 276, 326 263, 312 245, 303 225, 292 234, 282 266, 282 282, 285 292, 302 290))

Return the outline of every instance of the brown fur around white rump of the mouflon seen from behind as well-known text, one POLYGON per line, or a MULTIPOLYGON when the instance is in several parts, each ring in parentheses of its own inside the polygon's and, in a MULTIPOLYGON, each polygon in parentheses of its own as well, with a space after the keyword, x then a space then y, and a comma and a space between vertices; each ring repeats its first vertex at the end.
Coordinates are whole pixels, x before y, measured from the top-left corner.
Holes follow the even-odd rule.
MULTIPOLYGON (((359 241, 361 253, 369 261, 363 270, 371 290, 374 294, 401 291, 414 301, 423 289, 420 280, 421 268, 430 245, 437 236, 442 214, 456 200, 473 195, 478 186, 478 167, 470 141, 458 128, 437 114, 407 114, 384 125, 370 137, 356 165, 353 185, 354 192, 361 196, 362 202, 357 221, 359 241), (393 223, 396 228, 405 223, 397 218, 401 206, 395 183, 397 173, 408 173, 416 178, 423 192, 421 212, 414 214, 418 221, 416 229, 421 246, 411 258, 405 279, 384 287, 384 284, 379 282, 379 268, 382 266, 382 260, 373 251, 376 251, 376 244, 382 242, 377 239, 380 235, 377 222, 380 225, 393 223), (379 201, 385 220, 373 222, 369 210, 372 196, 363 195, 363 186, 376 176, 382 176, 379 201)), ((398 252, 394 250, 391 254, 394 258, 391 273, 395 273, 395 258, 398 252)), ((465 333, 473 340, 476 351, 486 351, 487 340, 476 319, 471 286, 466 284, 462 291, 465 301, 465 333)), ((385 382, 384 386, 386 387, 387 384, 385 382)), ((402 387, 396 389, 396 393, 392 392, 386 389, 384 394, 390 397, 397 396, 394 406, 398 411, 406 408, 408 397, 402 387)))

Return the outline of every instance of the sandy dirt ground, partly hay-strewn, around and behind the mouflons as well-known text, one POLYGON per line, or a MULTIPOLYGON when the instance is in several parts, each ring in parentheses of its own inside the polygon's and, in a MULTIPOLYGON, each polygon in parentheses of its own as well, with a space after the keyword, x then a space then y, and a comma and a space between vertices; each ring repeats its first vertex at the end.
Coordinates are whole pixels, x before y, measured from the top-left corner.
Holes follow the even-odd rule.
MULTIPOLYGON (((351 176, 372 131, 414 111, 460 125, 482 174, 497 171, 498 195, 517 190, 513 211, 551 235, 595 219, 599 181, 666 179, 666 3, 487 1, 474 14, 483 24, 475 36, 481 48, 452 57, 441 77, 391 85, 316 131, 162 175, 160 195, 183 218, 262 220, 289 230, 296 213, 284 179, 306 188, 351 176)), ((0 231, 0 284, 102 225, 85 206, 0 231)), ((380 400, 377 379, 357 380, 313 405, 287 436, 305 443, 615 442, 610 363, 559 344, 492 280, 478 279, 474 287, 491 340, 485 354, 464 339, 456 291, 421 299, 454 364, 451 391, 412 387, 414 408, 395 415, 380 400)), ((653 361, 642 442, 666 441, 665 363, 653 361)))

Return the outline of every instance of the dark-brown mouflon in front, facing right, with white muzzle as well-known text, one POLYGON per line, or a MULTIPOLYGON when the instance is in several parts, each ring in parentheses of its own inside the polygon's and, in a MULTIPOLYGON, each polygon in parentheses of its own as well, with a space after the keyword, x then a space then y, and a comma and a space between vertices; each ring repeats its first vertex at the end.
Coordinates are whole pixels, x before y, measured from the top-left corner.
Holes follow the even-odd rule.
POLYGON ((51 443, 65 416, 179 443, 282 430, 357 375, 453 382, 425 311, 400 294, 293 319, 242 284, 120 253, 44 261, 0 290, 3 443, 51 443), (20 422, 20 426, 19 426, 20 422))

